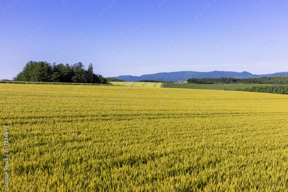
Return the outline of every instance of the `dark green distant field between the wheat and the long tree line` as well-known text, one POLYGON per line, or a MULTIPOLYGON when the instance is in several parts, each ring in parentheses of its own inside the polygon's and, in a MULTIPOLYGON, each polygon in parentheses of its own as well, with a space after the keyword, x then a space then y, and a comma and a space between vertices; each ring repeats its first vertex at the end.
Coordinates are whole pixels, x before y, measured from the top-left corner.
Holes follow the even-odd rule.
POLYGON ((163 88, 179 88, 179 89, 208 89, 208 90, 223 90, 224 88, 228 90, 244 89, 247 87, 253 87, 258 85, 266 84, 187 84, 187 83, 164 83, 163 88))

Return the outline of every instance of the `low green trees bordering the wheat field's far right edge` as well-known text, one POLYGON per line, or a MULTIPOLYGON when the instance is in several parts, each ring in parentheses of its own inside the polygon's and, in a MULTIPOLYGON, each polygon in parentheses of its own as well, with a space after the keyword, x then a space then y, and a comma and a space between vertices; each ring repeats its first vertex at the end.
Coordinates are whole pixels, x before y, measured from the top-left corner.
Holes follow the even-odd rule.
POLYGON ((259 85, 251 88, 236 89, 235 91, 274 93, 288 95, 288 85, 259 85))

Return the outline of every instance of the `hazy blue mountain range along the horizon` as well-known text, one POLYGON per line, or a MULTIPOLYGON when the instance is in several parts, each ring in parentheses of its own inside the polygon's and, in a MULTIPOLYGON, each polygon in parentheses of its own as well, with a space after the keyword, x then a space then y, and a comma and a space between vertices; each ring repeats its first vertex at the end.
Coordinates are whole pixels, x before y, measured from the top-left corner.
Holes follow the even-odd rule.
POLYGON ((232 71, 211 71, 211 72, 179 71, 170 73, 155 73, 151 75, 141 75, 139 77, 132 75, 121 75, 112 78, 121 79, 127 82, 137 82, 142 79, 158 80, 158 81, 187 81, 187 79, 191 78, 234 77, 240 79, 247 79, 247 78, 275 77, 275 76, 288 76, 288 72, 280 72, 266 75, 253 75, 252 73, 248 73, 247 71, 243 71, 241 73, 232 71))

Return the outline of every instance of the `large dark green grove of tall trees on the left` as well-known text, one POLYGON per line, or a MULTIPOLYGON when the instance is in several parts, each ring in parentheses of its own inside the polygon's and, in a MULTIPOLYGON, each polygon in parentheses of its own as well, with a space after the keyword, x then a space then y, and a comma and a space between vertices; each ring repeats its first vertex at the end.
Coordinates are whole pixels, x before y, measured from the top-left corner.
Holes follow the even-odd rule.
POLYGON ((14 81, 26 82, 59 82, 59 83, 98 83, 107 84, 107 79, 102 75, 93 73, 92 63, 88 69, 79 62, 73 65, 63 65, 48 62, 30 61, 24 66, 23 71, 13 78, 14 81))

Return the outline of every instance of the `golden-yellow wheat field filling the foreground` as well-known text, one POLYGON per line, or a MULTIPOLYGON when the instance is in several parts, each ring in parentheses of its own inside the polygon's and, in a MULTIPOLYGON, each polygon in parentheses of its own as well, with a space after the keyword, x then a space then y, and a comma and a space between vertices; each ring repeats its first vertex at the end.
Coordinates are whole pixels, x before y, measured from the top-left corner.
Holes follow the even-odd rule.
POLYGON ((287 191, 288 96, 0 84, 3 191, 287 191))

